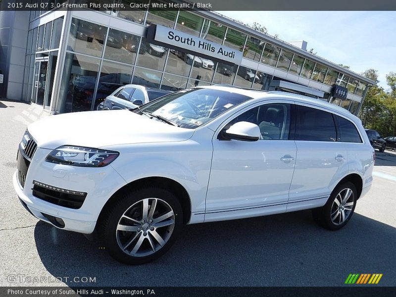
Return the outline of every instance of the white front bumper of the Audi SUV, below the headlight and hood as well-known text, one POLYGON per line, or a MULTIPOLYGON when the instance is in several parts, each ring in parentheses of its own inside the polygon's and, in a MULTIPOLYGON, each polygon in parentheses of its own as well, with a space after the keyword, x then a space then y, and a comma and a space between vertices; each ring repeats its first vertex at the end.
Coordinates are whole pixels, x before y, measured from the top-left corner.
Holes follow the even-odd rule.
POLYGON ((22 188, 14 173, 12 182, 25 207, 38 219, 59 229, 90 234, 94 231, 101 209, 107 200, 126 182, 110 166, 100 168, 74 167, 45 161, 50 149, 38 148, 26 174, 22 188), (59 187, 88 193, 81 208, 72 209, 47 202, 33 196, 33 180, 59 187), (47 215, 47 217, 45 216, 47 215), (53 224, 49 216, 63 220, 64 227, 53 224))

